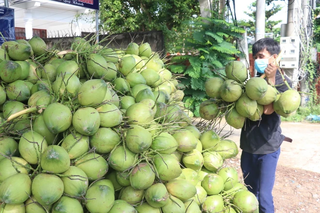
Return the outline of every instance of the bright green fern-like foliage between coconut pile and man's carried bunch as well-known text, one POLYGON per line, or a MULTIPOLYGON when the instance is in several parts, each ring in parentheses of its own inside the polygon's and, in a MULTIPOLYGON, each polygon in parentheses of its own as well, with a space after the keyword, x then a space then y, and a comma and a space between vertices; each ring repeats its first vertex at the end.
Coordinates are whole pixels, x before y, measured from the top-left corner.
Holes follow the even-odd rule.
POLYGON ((199 17, 190 23, 193 33, 185 45, 191 54, 176 56, 169 67, 173 73, 185 75, 180 86, 185 88, 184 102, 195 116, 199 116, 200 104, 208 99, 205 82, 217 76, 213 70, 224 73, 225 65, 240 54, 234 44, 244 29, 216 18, 199 17))

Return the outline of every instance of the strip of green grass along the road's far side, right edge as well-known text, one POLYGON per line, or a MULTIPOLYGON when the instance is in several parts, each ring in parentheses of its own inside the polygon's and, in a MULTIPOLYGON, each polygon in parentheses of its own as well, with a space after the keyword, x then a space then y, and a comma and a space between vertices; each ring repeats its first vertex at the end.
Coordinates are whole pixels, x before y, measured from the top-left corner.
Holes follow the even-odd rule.
POLYGON ((320 123, 320 121, 307 121, 307 120, 305 120, 305 118, 310 114, 312 114, 312 115, 320 115, 320 105, 300 107, 297 110, 296 114, 294 114, 294 115, 292 115, 292 116, 290 116, 288 118, 281 117, 281 121, 320 123))

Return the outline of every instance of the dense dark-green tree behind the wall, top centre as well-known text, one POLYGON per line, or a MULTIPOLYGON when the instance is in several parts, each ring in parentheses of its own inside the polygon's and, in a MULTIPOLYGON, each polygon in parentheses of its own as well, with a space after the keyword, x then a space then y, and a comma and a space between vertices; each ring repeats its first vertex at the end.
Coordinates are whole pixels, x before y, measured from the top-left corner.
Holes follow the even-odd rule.
POLYGON ((99 28, 108 33, 162 30, 167 51, 183 44, 184 22, 198 16, 195 0, 100 0, 99 28))

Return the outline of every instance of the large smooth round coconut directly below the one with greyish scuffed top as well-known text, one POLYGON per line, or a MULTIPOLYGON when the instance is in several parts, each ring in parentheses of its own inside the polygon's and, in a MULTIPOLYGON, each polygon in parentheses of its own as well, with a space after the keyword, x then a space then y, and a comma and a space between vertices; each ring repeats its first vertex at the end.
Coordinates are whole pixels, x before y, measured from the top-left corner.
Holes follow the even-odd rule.
POLYGON ((44 206, 55 203, 64 193, 64 183, 56 176, 40 173, 32 181, 32 195, 44 206))

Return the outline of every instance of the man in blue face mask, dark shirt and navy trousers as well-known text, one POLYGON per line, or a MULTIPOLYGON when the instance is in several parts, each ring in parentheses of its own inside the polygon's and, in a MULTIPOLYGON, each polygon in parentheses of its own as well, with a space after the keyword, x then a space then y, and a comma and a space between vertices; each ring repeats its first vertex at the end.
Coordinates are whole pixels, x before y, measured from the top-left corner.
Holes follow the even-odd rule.
MULTIPOLYGON (((258 76, 265 74, 268 84, 275 86, 281 93, 287 91, 288 86, 274 62, 280 53, 279 43, 271 38, 260 39, 253 45, 252 53, 258 76)), ((290 84, 289 79, 286 80, 290 84)), ((280 115, 274 111, 271 103, 263 106, 261 120, 246 119, 241 130, 241 169, 244 183, 256 195, 259 213, 274 213, 272 188, 280 145, 285 140, 280 123, 280 115)))

